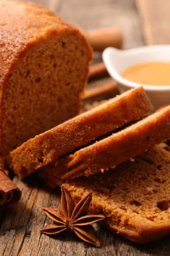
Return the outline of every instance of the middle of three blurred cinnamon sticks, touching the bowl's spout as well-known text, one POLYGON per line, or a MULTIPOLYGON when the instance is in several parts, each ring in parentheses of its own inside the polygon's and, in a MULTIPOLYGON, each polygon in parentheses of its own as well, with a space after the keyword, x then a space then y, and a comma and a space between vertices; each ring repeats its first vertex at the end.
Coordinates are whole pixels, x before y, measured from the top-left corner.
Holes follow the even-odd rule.
POLYGON ((99 78, 106 74, 108 74, 108 72, 103 62, 94 64, 89 68, 89 80, 99 78))

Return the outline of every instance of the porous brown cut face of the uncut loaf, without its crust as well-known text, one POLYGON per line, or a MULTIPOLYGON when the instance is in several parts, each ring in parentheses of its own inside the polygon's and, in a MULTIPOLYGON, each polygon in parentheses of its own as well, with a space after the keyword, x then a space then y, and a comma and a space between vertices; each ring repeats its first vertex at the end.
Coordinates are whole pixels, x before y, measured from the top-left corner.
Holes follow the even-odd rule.
POLYGON ((77 114, 88 60, 84 41, 71 33, 39 43, 19 59, 3 90, 3 155, 77 114))

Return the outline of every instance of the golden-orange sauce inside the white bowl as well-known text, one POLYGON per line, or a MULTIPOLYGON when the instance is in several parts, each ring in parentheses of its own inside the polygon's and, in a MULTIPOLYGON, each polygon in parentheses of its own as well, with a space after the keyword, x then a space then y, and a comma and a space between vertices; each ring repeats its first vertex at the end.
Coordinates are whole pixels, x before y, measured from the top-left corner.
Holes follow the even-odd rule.
POLYGON ((148 62, 130 66, 122 77, 148 85, 170 85, 170 62, 148 62))

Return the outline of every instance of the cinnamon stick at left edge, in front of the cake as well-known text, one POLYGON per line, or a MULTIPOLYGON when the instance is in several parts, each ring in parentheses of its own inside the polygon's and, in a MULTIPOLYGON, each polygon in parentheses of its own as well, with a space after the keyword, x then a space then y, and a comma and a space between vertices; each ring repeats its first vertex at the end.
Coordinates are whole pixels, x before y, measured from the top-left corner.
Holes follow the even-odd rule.
POLYGON ((16 202, 21 198, 21 191, 8 178, 4 169, 0 168, 0 205, 16 202))

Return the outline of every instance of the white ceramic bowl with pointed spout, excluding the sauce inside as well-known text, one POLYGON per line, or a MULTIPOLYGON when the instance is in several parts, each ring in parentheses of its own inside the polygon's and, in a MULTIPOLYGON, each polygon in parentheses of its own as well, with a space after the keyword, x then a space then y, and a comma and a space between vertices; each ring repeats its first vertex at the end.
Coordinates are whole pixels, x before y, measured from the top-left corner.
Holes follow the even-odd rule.
POLYGON ((130 82, 121 76, 125 69, 135 64, 152 61, 170 62, 170 45, 144 46, 129 50, 118 50, 109 47, 104 50, 102 58, 110 76, 118 82, 120 92, 143 85, 154 109, 170 104, 169 85, 139 84, 130 82))

